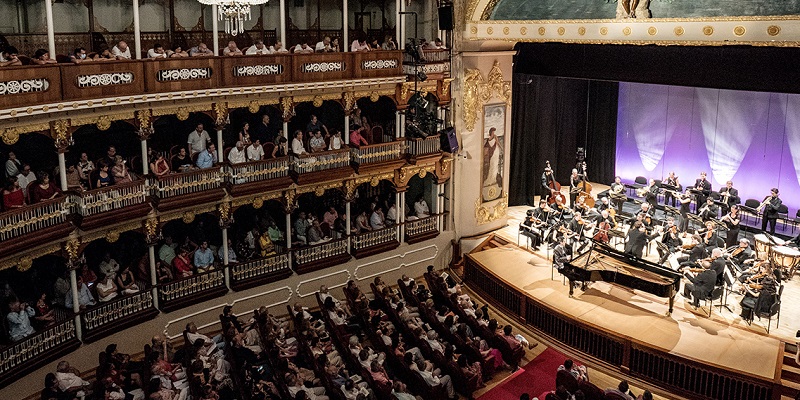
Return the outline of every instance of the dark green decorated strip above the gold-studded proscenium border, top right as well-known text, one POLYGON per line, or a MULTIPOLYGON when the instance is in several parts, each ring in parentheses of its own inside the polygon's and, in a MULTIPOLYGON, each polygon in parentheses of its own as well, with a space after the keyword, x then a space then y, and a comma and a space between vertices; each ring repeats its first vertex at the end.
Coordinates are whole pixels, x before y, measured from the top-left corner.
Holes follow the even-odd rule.
POLYGON ((718 18, 796 15, 784 0, 499 0, 490 20, 718 18))

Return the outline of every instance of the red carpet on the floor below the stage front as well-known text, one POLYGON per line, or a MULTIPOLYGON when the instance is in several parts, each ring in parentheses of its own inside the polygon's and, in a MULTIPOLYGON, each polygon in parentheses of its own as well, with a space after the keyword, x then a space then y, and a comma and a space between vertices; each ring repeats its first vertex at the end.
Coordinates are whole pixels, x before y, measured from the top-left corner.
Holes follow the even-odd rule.
MULTIPOLYGON (((510 378, 478 397, 480 400, 517 400, 522 393, 531 398, 556 387, 556 370, 567 356, 548 348, 510 378)), ((539 399, 542 400, 542 399, 539 399)))

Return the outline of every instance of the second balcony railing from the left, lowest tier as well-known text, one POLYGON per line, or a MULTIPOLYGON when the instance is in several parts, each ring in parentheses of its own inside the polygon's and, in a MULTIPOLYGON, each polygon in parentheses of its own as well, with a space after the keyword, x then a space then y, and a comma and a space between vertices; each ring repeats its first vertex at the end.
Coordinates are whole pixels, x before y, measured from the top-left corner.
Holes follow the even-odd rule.
POLYGON ((92 331, 114 326, 117 329, 122 322, 130 321, 131 317, 145 312, 155 311, 153 306, 153 292, 143 290, 131 295, 117 297, 81 314, 84 336, 91 335, 92 331))

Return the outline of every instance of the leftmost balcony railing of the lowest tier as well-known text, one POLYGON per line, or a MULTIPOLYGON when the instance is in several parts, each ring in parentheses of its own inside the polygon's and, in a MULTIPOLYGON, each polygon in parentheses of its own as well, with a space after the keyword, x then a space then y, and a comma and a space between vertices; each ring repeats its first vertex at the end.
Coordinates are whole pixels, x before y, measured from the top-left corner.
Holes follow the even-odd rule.
POLYGON ((69 318, 26 337, 0 351, 0 375, 37 360, 40 354, 57 351, 59 346, 75 340, 75 319, 69 318))

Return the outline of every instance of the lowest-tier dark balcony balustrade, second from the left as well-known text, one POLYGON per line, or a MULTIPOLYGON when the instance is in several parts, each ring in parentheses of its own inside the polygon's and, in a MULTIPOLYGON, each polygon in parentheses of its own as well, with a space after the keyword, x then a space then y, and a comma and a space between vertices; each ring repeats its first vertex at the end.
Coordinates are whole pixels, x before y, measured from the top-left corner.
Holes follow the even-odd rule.
POLYGON ((145 289, 135 294, 121 295, 81 313, 83 341, 97 340, 156 315, 158 310, 153 304, 151 290, 145 289))

